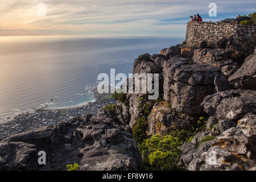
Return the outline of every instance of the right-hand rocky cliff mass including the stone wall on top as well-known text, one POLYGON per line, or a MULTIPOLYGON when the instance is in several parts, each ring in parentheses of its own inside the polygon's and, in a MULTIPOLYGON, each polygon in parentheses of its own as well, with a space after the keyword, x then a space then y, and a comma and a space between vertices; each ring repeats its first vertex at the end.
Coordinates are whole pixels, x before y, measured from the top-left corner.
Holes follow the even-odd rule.
POLYGON ((148 101, 147 94, 126 94, 127 122, 133 126, 146 118, 151 137, 173 129, 191 131, 204 116, 203 130, 180 147, 178 166, 255 170, 255 26, 192 22, 186 40, 134 61, 133 73, 159 73, 162 98, 148 101), (199 30, 196 36, 191 33, 199 30))

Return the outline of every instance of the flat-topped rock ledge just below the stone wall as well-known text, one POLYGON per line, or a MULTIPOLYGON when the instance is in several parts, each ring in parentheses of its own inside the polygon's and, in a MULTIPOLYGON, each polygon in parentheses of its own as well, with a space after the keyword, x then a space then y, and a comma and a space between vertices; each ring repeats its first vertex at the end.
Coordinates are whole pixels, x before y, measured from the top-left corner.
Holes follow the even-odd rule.
POLYGON ((229 59, 226 49, 195 49, 193 61, 218 67, 225 76, 232 75, 238 69, 237 63, 229 59))

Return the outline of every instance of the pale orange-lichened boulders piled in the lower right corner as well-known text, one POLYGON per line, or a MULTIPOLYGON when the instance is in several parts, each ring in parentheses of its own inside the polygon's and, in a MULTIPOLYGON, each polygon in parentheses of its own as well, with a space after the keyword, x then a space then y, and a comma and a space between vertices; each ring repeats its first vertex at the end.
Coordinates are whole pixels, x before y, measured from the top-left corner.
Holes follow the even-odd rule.
POLYGON ((197 133, 180 147, 179 165, 191 171, 256 170, 255 90, 217 92, 201 105, 210 115, 206 128, 211 131, 197 133), (212 135, 217 137, 200 144, 212 135))

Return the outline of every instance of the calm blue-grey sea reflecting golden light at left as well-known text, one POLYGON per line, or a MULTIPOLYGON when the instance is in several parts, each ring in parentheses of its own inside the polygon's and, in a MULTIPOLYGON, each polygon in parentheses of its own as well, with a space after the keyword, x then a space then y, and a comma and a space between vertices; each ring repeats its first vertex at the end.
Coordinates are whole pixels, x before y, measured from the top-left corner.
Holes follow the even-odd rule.
POLYGON ((94 100, 99 73, 131 73, 142 53, 159 53, 183 38, 0 38, 0 122, 50 104, 67 107, 94 100), (2 39, 2 40, 1 40, 2 39), (52 100, 53 101, 50 101, 52 100))

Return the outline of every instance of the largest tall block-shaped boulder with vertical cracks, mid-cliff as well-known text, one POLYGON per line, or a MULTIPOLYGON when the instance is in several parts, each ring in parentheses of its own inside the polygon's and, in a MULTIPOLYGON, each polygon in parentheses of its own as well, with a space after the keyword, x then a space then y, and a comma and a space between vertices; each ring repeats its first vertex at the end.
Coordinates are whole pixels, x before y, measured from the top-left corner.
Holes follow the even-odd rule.
POLYGON ((201 114, 204 97, 214 93, 214 77, 219 69, 194 64, 190 59, 174 56, 163 68, 164 100, 179 113, 201 114))

